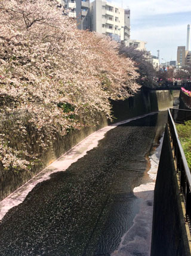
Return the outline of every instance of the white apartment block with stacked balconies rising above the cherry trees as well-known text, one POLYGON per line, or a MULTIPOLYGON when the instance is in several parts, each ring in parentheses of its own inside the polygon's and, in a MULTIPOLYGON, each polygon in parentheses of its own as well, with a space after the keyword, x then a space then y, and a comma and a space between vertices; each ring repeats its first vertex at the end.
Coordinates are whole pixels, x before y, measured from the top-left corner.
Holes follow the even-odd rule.
POLYGON ((90 3, 91 30, 109 35, 116 41, 130 39, 130 10, 110 2, 95 0, 90 3))

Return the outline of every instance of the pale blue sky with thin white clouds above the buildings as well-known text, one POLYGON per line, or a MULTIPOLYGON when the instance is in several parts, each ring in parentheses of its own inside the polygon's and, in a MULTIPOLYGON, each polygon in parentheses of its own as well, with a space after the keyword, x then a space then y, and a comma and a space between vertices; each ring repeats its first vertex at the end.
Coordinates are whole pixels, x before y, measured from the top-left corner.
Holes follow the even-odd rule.
MULTIPOLYGON (((111 2, 111 1, 110 1, 111 2)), ((176 61, 177 47, 186 46, 187 25, 191 24, 190 0, 115 0, 131 10, 131 39, 146 41, 146 49, 160 61, 176 61)), ((191 49, 191 46, 190 46, 191 49)))

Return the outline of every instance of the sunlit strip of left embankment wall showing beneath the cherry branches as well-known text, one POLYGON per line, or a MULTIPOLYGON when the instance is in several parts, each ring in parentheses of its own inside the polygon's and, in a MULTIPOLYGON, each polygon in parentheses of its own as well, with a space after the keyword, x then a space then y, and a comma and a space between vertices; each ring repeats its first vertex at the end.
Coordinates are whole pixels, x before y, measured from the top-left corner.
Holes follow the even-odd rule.
MULTIPOLYGON (((5 170, 2 162, 0 161, 0 201, 10 195, 11 192, 15 191, 92 132, 97 131, 98 129, 107 125, 107 119, 105 117, 101 117, 100 125, 95 127, 92 126, 84 127, 82 129, 75 129, 67 132, 67 134, 64 136, 56 134, 56 139, 52 141, 52 146, 44 150, 36 143, 36 140, 39 137, 38 131, 33 129, 32 125, 27 122, 27 117, 23 117, 22 119, 23 125, 25 125, 27 128, 27 134, 24 137, 24 140, 26 143, 32 145, 33 153, 37 153, 39 155, 39 161, 37 161, 36 164, 28 171, 16 171, 13 168, 5 170)), ((15 134, 14 132, 14 126, 16 125, 17 120, 17 118, 13 118, 11 120, 1 121, 0 129, 1 133, 4 132, 6 134, 8 132, 9 135, 14 138, 10 141, 10 143, 13 143, 17 150, 22 150, 20 141, 23 138, 20 138, 19 134, 15 134)))

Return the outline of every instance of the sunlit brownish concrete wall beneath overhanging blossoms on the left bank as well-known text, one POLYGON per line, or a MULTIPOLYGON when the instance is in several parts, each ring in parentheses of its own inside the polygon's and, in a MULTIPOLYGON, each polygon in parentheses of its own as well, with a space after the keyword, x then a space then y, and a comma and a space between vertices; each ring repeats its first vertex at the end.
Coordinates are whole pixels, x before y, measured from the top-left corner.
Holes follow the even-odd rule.
MULTIPOLYGON (((8 125, 10 126, 10 129, 8 128, 8 132, 11 131, 11 125, 14 125, 13 121, 8 121, 8 125)), ((4 122, 5 126, 6 122, 4 122)), ((29 124, 27 125, 27 131, 28 134, 27 139, 29 141, 32 141, 33 144, 35 144, 35 138, 38 136, 35 131, 32 131, 29 124), (31 137, 31 133, 35 132, 35 137, 31 137)), ((63 155, 63 153, 67 152, 69 149, 71 149, 73 146, 78 144, 81 140, 83 140, 85 137, 90 135, 92 132, 105 127, 107 125, 107 119, 103 118, 101 121, 101 124, 97 127, 84 127, 82 129, 75 129, 73 131, 70 131, 65 136, 56 135, 56 140, 53 140, 53 146, 48 148, 47 150, 44 150, 41 152, 41 148, 39 148, 38 144, 35 144, 34 146, 34 153, 40 153, 40 162, 41 164, 35 165, 35 167, 32 167, 30 171, 26 170, 20 170, 15 171, 13 169, 5 170, 2 165, 0 164, 0 201, 11 194, 11 192, 15 191, 17 188, 19 188, 21 185, 23 185, 25 182, 27 182, 29 179, 31 179, 35 174, 39 173, 39 171, 43 170, 45 167, 51 164, 51 162, 55 161, 59 156, 63 155)), ((14 134, 13 134, 14 137, 14 134)), ((15 143, 17 144, 17 147, 20 146, 20 141, 18 138, 16 138, 15 143)))

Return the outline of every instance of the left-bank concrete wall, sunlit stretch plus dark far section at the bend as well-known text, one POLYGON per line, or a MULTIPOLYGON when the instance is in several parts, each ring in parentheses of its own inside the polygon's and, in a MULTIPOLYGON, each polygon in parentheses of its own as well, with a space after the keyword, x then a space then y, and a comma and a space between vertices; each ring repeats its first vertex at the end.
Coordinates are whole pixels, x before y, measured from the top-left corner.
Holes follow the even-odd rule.
MULTIPOLYGON (((160 107, 172 107, 172 105, 173 97, 170 91, 139 91, 134 97, 130 97, 125 101, 112 101, 112 113, 116 118, 115 122, 118 122, 146 113, 156 112, 160 110, 160 107)), ((16 172, 14 170, 4 170, 0 162, 0 201, 27 182, 27 180, 35 176, 35 174, 39 173, 39 171, 51 164, 51 162, 56 160, 63 153, 67 152, 67 150, 78 144, 79 141, 83 140, 97 129, 105 127, 108 124, 108 121, 106 118, 103 118, 100 123, 100 126, 97 127, 85 127, 81 130, 71 131, 64 137, 57 135, 56 141, 53 141, 53 147, 43 150, 43 152, 41 152, 41 149, 35 143, 35 138, 30 136, 30 134, 33 134, 35 131, 30 128, 29 124, 26 124, 28 126, 27 141, 30 141, 30 143, 33 142, 34 153, 40 153, 41 165, 36 165, 30 171, 20 170, 16 172)), ((11 121, 10 124, 7 124, 7 132, 13 132, 12 137, 16 139, 15 143, 18 148, 21 147, 19 145, 20 138, 16 138, 14 131, 11 131, 13 125, 14 120, 11 121)))

